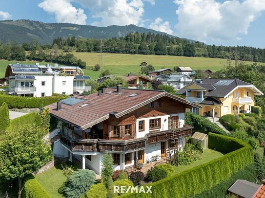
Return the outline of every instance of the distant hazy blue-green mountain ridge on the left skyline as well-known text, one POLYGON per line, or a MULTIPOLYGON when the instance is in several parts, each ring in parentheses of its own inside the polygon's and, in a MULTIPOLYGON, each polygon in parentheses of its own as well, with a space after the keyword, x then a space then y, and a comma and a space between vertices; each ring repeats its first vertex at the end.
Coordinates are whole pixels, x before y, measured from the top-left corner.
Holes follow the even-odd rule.
POLYGON ((163 34, 135 25, 111 25, 96 27, 92 25, 77 25, 71 23, 43 23, 33 20, 2 20, 0 21, 0 41, 16 41, 19 44, 37 39, 41 44, 51 44, 54 38, 69 35, 85 38, 111 38, 125 36, 131 32, 163 34))

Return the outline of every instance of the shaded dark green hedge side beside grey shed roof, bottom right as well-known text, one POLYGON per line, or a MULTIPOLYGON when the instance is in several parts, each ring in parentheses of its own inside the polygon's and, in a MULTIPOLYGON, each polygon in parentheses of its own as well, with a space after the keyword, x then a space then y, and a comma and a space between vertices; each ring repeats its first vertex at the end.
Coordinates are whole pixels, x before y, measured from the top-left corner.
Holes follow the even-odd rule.
POLYGON ((235 174, 233 174, 228 180, 222 181, 218 185, 213 186, 207 191, 204 191, 201 194, 195 195, 193 198, 224 198, 227 194, 228 188, 236 181, 236 180, 248 180, 254 182, 256 179, 256 170, 255 165, 250 164, 246 166, 244 169, 239 170, 235 174))

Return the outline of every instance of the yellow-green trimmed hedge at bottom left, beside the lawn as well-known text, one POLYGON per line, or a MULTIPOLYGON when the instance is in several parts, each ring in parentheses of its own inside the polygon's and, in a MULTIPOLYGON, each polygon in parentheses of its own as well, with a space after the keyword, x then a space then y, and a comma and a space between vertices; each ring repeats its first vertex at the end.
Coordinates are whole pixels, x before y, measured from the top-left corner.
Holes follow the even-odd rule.
POLYGON ((51 198, 33 175, 27 176, 23 181, 21 198, 51 198))

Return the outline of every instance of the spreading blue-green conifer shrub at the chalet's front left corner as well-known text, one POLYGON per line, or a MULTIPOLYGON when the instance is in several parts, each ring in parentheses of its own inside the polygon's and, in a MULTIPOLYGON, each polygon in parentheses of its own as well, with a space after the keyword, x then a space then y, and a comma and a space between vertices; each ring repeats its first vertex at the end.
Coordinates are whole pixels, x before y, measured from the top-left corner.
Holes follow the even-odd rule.
POLYGON ((92 170, 81 169, 70 175, 65 184, 64 194, 66 198, 80 198, 90 186, 95 183, 96 176, 92 170))

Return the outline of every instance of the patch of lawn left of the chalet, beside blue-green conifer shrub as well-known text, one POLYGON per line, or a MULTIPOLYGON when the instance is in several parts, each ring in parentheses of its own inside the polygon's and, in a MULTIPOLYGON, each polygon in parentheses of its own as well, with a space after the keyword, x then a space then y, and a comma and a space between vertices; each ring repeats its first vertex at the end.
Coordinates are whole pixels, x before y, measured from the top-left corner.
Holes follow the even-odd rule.
POLYGON ((52 167, 34 177, 40 182, 51 198, 63 198, 63 196, 58 193, 59 187, 64 181, 66 181, 66 177, 62 174, 61 169, 52 167))

